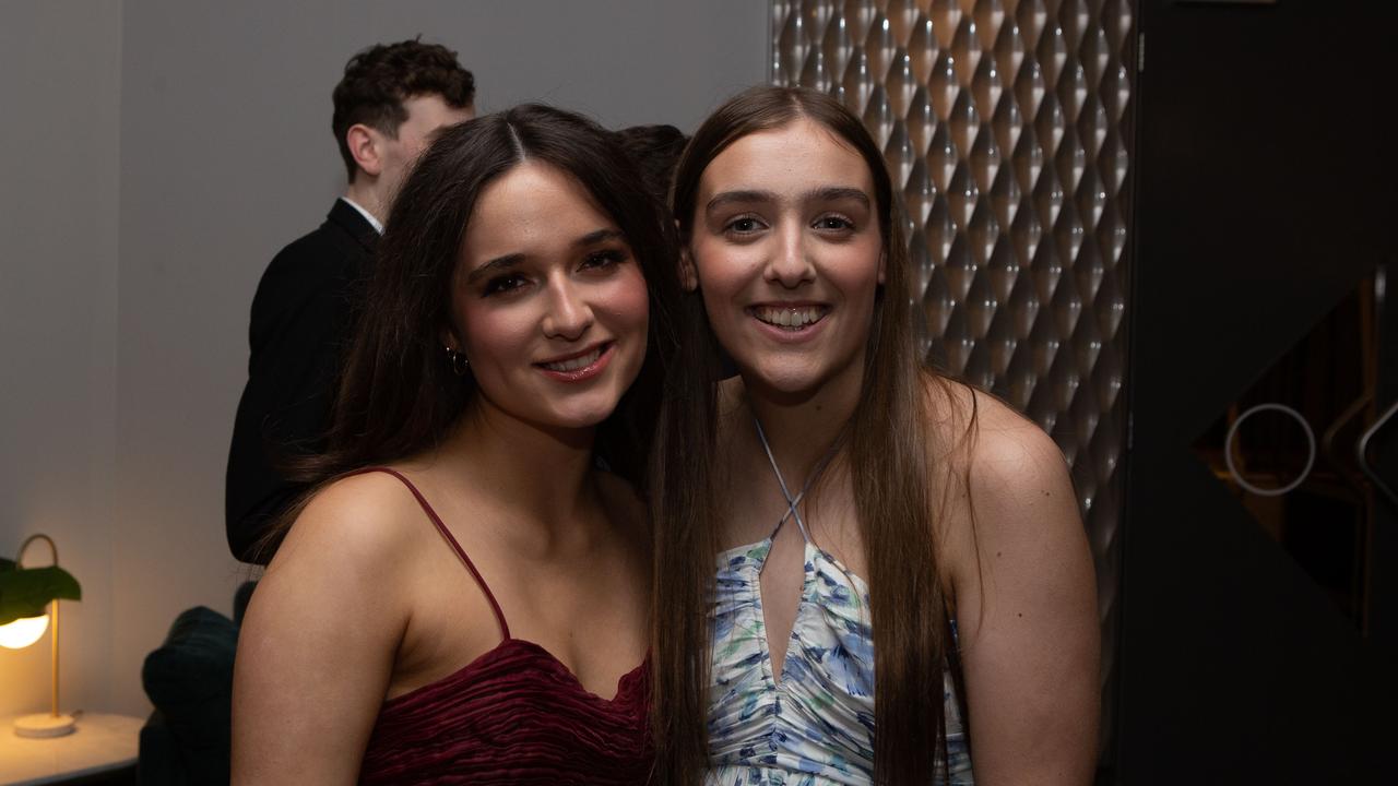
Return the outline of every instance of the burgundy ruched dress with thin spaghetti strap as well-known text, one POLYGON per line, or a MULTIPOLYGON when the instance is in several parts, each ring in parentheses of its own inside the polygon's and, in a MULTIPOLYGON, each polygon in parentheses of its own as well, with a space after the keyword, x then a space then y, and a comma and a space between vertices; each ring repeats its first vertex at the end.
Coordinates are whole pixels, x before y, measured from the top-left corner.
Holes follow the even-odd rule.
POLYGON ((363 785, 633 785, 654 761, 646 713, 650 660, 604 699, 544 648, 510 636, 500 606, 418 490, 394 470, 481 585, 505 639, 461 670, 383 703, 359 769, 363 785))

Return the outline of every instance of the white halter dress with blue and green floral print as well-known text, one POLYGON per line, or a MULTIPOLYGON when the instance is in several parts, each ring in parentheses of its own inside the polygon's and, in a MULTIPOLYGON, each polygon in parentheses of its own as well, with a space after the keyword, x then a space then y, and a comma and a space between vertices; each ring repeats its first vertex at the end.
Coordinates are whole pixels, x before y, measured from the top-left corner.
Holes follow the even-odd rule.
MULTIPOLYGON (((766 435, 758 424, 763 448, 766 435)), ((781 674, 773 674, 759 578, 776 531, 719 555, 709 687, 712 786, 867 786, 874 773, 874 631, 868 586, 811 540, 772 449, 768 459, 805 540, 805 578, 781 674)), ((814 480, 821 467, 811 474, 814 480)), ((809 488, 811 481, 807 481, 809 488)), ((944 670, 948 786, 973 783, 944 670)), ((938 778, 938 783, 942 778, 938 778)))

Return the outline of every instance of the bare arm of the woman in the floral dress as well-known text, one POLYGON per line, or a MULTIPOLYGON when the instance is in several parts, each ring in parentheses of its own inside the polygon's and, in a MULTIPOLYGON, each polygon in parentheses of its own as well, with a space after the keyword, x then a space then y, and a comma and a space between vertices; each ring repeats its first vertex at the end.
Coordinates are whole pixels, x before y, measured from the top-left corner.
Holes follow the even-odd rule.
POLYGON ((1100 632, 1076 495, 1043 431, 979 401, 970 524, 949 533, 976 782, 1088 785, 1100 632))

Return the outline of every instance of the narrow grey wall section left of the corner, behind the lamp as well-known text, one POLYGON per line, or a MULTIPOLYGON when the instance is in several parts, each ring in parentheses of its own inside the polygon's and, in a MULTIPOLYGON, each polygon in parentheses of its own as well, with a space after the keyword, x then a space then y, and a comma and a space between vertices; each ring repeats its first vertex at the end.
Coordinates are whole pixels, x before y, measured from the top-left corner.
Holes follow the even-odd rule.
MULTIPOLYGON (((109 0, 0 3, 0 557, 48 533, 82 585, 69 712, 112 692, 120 29, 109 0)), ((48 634, 0 649, 0 717, 48 710, 50 669, 48 634)))

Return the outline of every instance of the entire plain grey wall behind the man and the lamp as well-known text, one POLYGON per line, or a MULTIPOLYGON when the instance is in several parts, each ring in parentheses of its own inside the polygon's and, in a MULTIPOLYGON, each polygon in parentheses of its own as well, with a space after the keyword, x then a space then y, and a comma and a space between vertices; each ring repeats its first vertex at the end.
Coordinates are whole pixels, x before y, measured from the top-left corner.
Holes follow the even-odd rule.
MULTIPOLYGON (((768 3, 0 1, 0 554, 46 529, 84 583, 70 706, 144 713, 171 620, 228 611, 253 290, 343 186, 344 62, 417 34, 460 52, 482 112, 542 99, 692 130, 765 80, 768 3)), ((0 713, 42 705, 39 655, 0 652, 0 713)))

